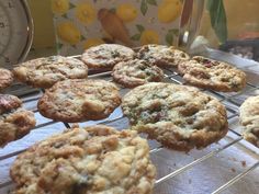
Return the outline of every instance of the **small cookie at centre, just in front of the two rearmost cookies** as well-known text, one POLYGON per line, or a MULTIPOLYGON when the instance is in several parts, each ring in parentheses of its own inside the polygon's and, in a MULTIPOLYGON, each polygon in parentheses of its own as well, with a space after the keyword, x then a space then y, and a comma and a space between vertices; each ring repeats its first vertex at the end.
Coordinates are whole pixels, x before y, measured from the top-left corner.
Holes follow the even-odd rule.
POLYGON ((134 88, 147 82, 161 81, 164 72, 157 66, 142 59, 119 62, 112 71, 113 80, 126 88, 134 88))

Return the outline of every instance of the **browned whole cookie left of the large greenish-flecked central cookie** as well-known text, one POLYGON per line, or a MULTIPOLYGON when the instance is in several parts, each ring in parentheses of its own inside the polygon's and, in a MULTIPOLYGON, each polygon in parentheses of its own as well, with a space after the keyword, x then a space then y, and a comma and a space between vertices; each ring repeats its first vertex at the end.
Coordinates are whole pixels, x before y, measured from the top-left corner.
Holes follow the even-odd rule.
POLYGON ((114 83, 104 80, 64 80, 40 99, 40 113, 55 121, 74 123, 108 117, 121 98, 114 83))

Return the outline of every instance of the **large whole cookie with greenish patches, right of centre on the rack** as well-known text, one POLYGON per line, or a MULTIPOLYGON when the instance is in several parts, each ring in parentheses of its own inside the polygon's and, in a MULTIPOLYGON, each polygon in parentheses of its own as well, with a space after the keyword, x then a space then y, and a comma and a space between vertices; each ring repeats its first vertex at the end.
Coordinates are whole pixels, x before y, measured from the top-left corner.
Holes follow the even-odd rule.
POLYGON ((206 147, 228 130, 224 105, 192 87, 146 83, 123 98, 122 109, 132 129, 176 150, 206 147))

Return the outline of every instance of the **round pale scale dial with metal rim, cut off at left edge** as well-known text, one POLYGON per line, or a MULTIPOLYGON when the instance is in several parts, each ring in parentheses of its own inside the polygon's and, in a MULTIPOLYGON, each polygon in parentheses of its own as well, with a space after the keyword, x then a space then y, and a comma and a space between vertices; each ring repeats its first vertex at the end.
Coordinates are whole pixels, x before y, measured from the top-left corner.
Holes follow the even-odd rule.
POLYGON ((25 0, 0 1, 0 67, 11 69, 25 59, 33 39, 33 22, 25 0))

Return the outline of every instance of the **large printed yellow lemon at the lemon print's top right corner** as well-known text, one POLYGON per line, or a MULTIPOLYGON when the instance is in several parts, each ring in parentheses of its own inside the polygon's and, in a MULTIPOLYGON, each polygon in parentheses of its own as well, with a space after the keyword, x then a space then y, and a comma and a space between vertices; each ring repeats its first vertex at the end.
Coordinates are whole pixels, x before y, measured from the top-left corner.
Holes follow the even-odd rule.
POLYGON ((164 0, 158 7, 158 20, 162 23, 173 22, 182 11, 180 0, 164 0))

